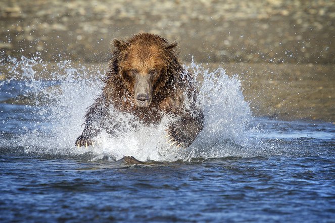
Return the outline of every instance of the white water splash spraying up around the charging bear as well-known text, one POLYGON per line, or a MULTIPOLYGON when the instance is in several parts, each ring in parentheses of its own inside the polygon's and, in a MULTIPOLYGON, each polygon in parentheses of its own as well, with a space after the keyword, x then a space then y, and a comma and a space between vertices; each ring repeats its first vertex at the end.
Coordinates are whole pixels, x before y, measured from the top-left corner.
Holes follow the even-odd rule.
MULTIPOLYGON (((203 107, 205 115, 203 131, 188 148, 168 146, 164 135, 171 118, 165 117, 157 126, 140 123, 136 129, 128 126, 128 131, 118 137, 103 132, 95 138, 98 142, 95 147, 86 149, 75 147, 74 141, 83 130, 86 108, 101 92, 105 71, 64 61, 56 64, 56 69, 50 73, 50 64, 38 57, 11 59, 6 66, 10 79, 0 86, 16 81, 21 97, 34 100, 27 112, 37 121, 28 127, 20 126, 25 133, 12 139, 12 143, 24 147, 26 152, 73 155, 88 150, 95 154, 93 160, 132 155, 142 161, 248 154, 245 145, 250 143, 248 133, 252 131, 248 129, 252 121, 249 104, 244 100, 240 80, 237 76, 228 77, 222 68, 209 72, 194 62, 186 67, 193 70, 202 83, 197 103, 203 107)), ((125 123, 132 118, 124 114, 118 117, 125 123)))

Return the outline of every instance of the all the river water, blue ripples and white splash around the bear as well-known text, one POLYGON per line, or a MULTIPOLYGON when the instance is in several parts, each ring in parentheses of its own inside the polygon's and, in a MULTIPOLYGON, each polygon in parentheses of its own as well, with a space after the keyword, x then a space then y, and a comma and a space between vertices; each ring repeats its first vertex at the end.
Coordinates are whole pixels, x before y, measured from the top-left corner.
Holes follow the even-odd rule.
POLYGON ((334 125, 253 118, 223 69, 190 66, 206 117, 190 147, 168 146, 166 117, 78 149, 104 71, 62 62, 50 72, 38 58, 2 66, 1 222, 334 222, 334 125))

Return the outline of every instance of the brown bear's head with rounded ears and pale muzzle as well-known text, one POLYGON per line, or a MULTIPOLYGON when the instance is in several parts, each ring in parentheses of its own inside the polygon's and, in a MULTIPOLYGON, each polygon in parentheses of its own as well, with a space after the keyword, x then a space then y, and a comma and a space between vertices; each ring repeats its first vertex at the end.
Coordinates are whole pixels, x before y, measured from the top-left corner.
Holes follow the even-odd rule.
MULTIPOLYGON (((123 41, 114 39, 114 72, 137 106, 148 107, 174 77, 181 72, 175 52, 176 42, 149 33, 139 33, 123 41)), ((178 76, 178 75, 177 75, 178 76)))

